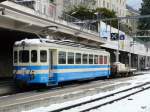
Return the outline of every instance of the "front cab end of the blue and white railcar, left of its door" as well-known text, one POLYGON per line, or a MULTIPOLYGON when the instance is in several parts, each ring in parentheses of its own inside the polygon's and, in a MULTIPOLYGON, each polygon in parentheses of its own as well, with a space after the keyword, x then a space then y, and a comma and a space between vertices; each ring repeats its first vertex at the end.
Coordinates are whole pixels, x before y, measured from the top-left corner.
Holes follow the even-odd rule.
POLYGON ((48 84, 47 50, 26 41, 13 48, 13 74, 17 85, 48 84))

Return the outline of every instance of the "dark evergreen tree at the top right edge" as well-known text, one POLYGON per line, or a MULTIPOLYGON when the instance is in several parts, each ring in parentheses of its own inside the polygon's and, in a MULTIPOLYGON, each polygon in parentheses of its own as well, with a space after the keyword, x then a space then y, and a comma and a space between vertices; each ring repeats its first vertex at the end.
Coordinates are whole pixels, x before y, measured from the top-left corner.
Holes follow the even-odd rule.
MULTIPOLYGON (((143 0, 143 2, 141 4, 140 14, 141 15, 150 14, 150 0, 143 0)), ((141 18, 141 19, 139 19, 138 28, 140 30, 150 29, 150 20, 149 19, 150 18, 141 18)))

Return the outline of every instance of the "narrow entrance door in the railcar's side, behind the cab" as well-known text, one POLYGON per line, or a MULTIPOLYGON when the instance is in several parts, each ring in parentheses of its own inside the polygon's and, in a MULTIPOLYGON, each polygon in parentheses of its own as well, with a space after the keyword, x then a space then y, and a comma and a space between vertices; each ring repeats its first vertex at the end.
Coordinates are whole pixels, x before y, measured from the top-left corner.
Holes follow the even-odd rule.
POLYGON ((53 77, 53 51, 49 49, 49 77, 53 77))

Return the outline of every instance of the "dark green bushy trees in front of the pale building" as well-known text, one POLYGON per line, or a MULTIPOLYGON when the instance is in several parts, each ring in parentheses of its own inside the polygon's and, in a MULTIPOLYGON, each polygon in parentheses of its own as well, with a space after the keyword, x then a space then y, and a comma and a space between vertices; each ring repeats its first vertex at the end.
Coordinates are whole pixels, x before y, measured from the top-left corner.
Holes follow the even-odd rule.
MULTIPOLYGON (((71 10, 65 12, 73 17, 76 17, 81 20, 97 20, 97 19, 105 19, 105 18, 116 18, 116 13, 106 8, 96 8, 90 9, 88 6, 79 5, 74 6, 71 10), (96 13, 100 14, 100 18, 97 17, 96 13)), ((104 21, 106 22, 106 21, 104 21)), ((96 27, 98 21, 96 23, 92 23, 96 27)), ((118 22, 117 20, 113 20, 111 22, 106 22, 107 24, 111 24, 111 26, 117 28, 118 22)))

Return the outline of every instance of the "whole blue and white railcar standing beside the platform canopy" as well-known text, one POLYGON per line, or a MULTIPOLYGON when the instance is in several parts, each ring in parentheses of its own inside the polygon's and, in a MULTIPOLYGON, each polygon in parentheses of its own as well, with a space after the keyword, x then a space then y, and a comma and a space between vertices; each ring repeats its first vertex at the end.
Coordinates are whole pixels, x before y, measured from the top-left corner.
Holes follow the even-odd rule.
POLYGON ((17 41, 13 63, 15 81, 28 85, 57 85, 64 81, 110 76, 108 52, 65 42, 17 41))

